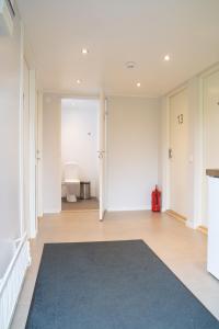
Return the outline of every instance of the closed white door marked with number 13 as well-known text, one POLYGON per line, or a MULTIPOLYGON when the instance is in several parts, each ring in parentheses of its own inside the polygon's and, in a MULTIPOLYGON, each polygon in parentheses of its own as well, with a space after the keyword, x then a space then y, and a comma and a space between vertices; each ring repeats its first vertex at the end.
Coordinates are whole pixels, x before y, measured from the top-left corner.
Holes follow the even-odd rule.
POLYGON ((170 209, 187 217, 188 103, 184 89, 170 98, 170 209))

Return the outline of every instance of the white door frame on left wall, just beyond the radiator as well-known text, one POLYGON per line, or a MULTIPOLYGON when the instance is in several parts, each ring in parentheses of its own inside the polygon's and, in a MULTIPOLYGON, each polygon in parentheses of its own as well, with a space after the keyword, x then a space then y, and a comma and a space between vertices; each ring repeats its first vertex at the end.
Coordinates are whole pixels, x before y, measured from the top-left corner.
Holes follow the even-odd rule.
POLYGON ((35 170, 35 147, 36 147, 36 76, 35 69, 30 67, 28 60, 22 53, 21 56, 21 115, 20 115, 20 235, 25 234, 27 238, 35 238, 37 235, 37 216, 36 216, 36 170, 35 170), (26 63, 28 70, 28 122, 24 123, 24 61, 26 63), (27 124, 27 125, 26 125, 27 124), (24 159, 24 129, 28 129, 28 158, 24 159), (28 200, 25 200, 24 195, 24 161, 27 160, 28 167, 28 180, 26 191, 30 195, 28 200), (24 218, 25 203, 28 203, 27 218, 24 218), (24 220, 26 220, 26 231, 24 229, 24 220))

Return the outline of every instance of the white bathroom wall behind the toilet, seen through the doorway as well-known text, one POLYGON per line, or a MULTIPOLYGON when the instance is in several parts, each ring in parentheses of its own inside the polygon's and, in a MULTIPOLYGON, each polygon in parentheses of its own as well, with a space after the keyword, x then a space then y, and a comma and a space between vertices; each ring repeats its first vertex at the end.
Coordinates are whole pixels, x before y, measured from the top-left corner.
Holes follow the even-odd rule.
POLYGON ((96 100, 61 101, 61 162, 79 164, 81 181, 91 182, 91 195, 97 196, 97 113, 96 100))

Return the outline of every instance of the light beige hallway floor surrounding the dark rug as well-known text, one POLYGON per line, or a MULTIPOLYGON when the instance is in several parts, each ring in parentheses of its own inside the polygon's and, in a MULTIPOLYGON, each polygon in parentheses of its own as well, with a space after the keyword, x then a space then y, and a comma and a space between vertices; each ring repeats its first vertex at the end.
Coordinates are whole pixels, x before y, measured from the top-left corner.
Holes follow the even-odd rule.
POLYGON ((39 220, 39 234, 32 242, 33 263, 27 272, 12 329, 25 327, 37 270, 45 242, 79 242, 142 239, 194 295, 219 319, 217 280, 206 272, 206 236, 165 214, 151 212, 61 213, 39 220))

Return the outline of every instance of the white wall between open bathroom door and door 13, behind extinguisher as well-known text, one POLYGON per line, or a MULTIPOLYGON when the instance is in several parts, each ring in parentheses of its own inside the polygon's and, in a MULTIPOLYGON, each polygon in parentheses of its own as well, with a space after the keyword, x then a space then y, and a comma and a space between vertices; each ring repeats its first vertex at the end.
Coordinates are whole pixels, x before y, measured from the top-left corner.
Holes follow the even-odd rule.
POLYGON ((160 101, 108 98, 107 208, 150 207, 158 184, 160 101))

